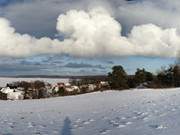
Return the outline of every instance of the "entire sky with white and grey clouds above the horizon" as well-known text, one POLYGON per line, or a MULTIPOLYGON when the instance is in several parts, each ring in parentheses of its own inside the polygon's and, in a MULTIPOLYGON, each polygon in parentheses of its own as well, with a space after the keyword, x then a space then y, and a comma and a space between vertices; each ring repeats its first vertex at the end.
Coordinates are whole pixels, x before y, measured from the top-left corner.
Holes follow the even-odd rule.
POLYGON ((0 75, 157 73, 179 57, 178 0, 0 0, 0 75))

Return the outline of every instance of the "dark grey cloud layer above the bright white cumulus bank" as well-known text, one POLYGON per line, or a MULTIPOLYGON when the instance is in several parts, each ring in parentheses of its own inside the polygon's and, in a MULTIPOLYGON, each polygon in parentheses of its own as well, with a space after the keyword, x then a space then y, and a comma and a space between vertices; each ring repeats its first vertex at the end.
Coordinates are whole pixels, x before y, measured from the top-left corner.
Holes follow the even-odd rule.
POLYGON ((96 6, 112 12, 122 24, 124 35, 134 25, 147 23, 180 29, 179 0, 1 0, 0 4, 5 5, 0 7, 0 16, 9 19, 18 32, 36 37, 54 37, 59 14, 96 6))

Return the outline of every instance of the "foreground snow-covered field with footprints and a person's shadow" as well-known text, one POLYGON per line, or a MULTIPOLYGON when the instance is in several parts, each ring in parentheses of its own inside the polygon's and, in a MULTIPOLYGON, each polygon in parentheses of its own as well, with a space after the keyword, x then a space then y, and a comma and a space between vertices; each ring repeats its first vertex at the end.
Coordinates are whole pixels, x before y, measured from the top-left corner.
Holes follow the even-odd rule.
POLYGON ((179 135, 180 89, 0 101, 1 135, 179 135))

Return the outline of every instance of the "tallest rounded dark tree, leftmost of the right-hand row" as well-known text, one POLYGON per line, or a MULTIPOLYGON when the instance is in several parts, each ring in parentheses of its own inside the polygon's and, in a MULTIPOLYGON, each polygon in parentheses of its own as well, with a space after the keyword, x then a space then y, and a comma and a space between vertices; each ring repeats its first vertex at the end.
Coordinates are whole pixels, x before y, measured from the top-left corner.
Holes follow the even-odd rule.
POLYGON ((128 76, 122 66, 114 66, 108 74, 108 81, 112 89, 127 89, 128 76))

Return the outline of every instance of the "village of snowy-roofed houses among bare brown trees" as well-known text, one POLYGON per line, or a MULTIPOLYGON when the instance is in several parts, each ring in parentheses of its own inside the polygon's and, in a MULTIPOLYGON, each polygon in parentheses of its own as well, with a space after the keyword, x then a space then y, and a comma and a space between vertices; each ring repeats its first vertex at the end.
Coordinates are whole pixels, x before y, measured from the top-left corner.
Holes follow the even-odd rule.
POLYGON ((82 83, 82 80, 50 84, 44 81, 19 81, 7 83, 0 89, 0 100, 41 99, 104 91, 110 89, 107 81, 82 83))

